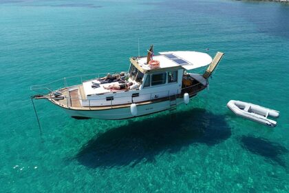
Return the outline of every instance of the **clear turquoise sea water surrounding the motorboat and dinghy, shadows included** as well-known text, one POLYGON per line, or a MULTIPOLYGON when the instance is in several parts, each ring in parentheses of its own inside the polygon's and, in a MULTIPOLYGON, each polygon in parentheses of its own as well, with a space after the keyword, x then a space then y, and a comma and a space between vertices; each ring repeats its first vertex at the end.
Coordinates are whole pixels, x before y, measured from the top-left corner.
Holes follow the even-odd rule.
POLYGON ((248 1, 0 1, 0 192, 289 192, 289 6, 248 1), (173 115, 71 119, 30 85, 127 70, 129 57, 222 60, 173 115), (281 112, 276 128, 226 103, 281 112))

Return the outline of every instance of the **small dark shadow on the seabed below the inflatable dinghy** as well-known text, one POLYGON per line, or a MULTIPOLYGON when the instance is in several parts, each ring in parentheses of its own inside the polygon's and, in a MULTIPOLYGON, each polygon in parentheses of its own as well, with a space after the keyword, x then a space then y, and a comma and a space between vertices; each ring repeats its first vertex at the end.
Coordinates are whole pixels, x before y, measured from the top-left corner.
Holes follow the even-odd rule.
POLYGON ((255 136, 242 136, 240 142, 243 148, 253 154, 263 156, 271 164, 278 163, 286 167, 286 161, 283 161, 280 156, 288 154, 289 151, 278 143, 255 136))

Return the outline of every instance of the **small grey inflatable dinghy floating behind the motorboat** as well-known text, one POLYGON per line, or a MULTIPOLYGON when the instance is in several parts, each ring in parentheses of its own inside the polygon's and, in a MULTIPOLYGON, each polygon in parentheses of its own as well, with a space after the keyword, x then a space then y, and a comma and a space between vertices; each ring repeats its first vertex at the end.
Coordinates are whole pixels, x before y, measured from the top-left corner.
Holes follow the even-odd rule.
POLYGON ((238 116, 250 119, 251 121, 255 121, 269 127, 275 127, 277 125, 276 121, 268 119, 268 116, 272 116, 274 118, 279 117, 279 112, 277 110, 271 110, 252 103, 234 100, 229 101, 227 103, 227 107, 238 116))

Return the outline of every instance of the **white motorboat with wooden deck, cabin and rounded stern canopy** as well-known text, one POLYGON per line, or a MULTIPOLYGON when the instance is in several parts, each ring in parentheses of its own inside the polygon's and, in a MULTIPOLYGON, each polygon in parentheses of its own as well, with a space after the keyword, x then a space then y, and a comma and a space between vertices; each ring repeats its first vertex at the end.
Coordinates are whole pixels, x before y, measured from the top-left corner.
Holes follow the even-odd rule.
POLYGON ((105 81, 94 74, 86 81, 78 77, 80 84, 69 85, 69 78, 65 78, 58 84, 65 85, 63 88, 55 89, 48 83, 34 85, 31 90, 44 89, 46 93, 37 94, 34 99, 47 99, 75 119, 129 119, 189 103, 191 97, 207 87, 208 78, 223 55, 217 52, 212 59, 203 52, 171 51, 153 56, 151 46, 146 57, 131 57, 129 70, 119 81, 105 81), (186 72, 206 65, 204 74, 186 72))

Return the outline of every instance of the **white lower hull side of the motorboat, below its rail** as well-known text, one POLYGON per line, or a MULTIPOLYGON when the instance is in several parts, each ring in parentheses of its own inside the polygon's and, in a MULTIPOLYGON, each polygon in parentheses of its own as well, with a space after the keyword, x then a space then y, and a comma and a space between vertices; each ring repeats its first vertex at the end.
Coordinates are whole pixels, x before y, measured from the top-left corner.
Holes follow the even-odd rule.
MULTIPOLYGON (((177 99, 176 105, 180 105, 184 103, 183 99, 177 99)), ((138 114, 136 116, 143 116, 146 114, 152 114, 156 112, 161 112, 164 110, 169 110, 172 108, 171 101, 161 101, 158 103, 150 103, 146 105, 138 105, 136 104, 138 114)), ((131 113, 131 108, 111 108, 108 110, 72 110, 66 109, 65 112, 74 118, 94 118, 94 119, 129 119, 133 118, 133 114, 131 113)))

